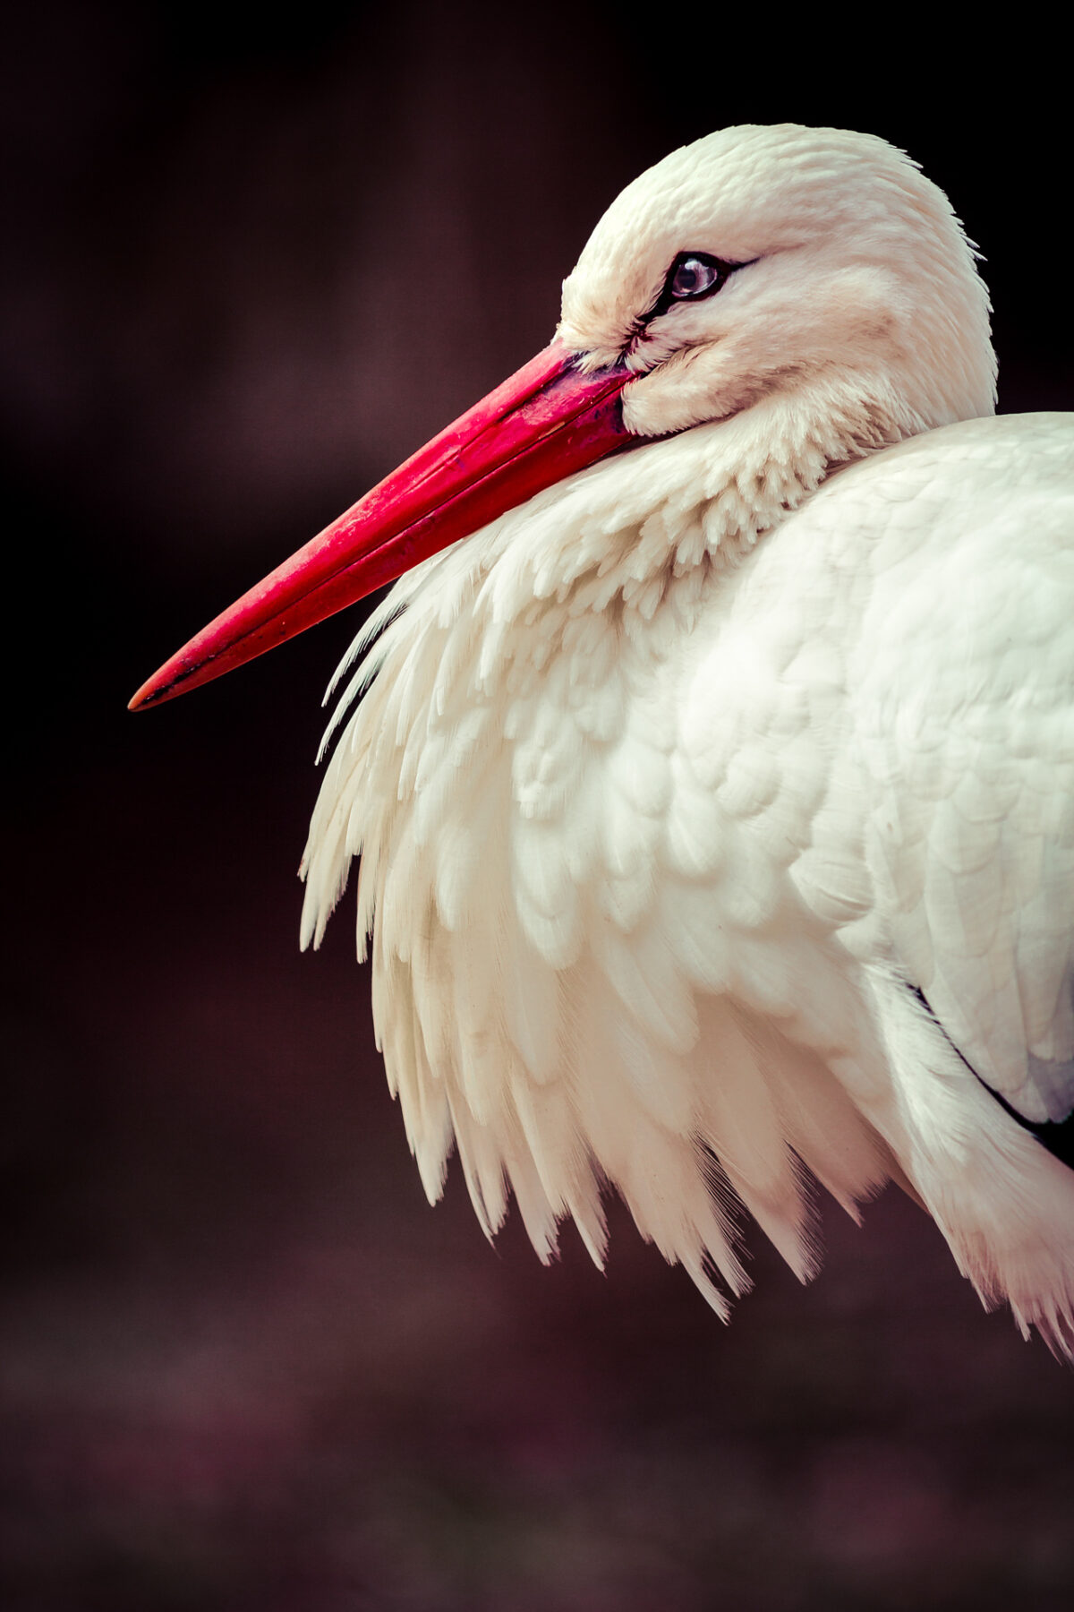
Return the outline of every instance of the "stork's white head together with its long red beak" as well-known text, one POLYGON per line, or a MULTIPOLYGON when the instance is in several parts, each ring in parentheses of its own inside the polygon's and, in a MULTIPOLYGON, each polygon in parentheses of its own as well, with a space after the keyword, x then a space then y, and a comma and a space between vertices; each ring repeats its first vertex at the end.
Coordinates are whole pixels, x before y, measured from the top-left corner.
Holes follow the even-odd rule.
POLYGON ((947 198, 884 140, 746 126, 612 203, 549 348, 167 661, 132 708, 262 654, 506 509, 784 398, 876 445, 992 413, 987 292, 947 198))

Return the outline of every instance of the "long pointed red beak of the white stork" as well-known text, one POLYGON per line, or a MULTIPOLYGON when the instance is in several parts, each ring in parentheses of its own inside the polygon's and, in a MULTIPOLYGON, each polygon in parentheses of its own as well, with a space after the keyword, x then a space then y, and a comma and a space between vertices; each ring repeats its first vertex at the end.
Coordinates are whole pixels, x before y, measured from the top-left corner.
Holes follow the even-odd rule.
POLYGON ((208 683, 354 604, 438 550, 631 438, 617 366, 593 376, 552 342, 211 621, 138 688, 147 704, 208 683))

